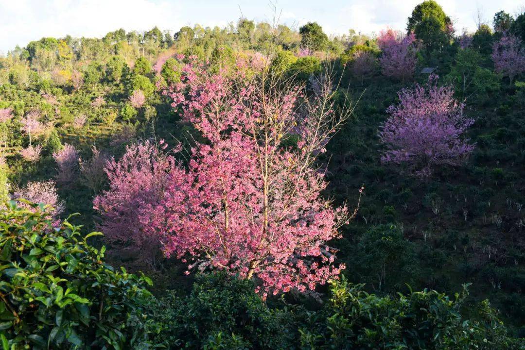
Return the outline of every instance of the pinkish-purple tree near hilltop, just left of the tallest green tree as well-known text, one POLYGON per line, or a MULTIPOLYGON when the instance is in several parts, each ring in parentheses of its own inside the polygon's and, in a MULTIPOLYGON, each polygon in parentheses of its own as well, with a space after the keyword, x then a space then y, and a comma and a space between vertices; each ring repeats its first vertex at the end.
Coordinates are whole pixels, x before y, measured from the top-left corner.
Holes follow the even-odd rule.
POLYGON ((402 37, 388 29, 381 32, 377 44, 383 50, 379 62, 384 75, 405 80, 414 74, 417 47, 413 33, 402 37))

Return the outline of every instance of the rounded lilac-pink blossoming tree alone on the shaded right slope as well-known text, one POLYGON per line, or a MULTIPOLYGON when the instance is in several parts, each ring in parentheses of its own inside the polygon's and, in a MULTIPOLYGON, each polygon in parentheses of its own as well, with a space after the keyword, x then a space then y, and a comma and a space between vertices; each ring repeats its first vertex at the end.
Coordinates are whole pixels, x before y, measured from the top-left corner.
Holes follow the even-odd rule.
POLYGON ((388 107, 390 114, 380 129, 386 147, 381 160, 402 165, 409 173, 426 177, 437 166, 458 166, 474 145, 463 138, 474 119, 463 115, 463 104, 454 97, 451 86, 437 86, 430 76, 426 86, 403 89, 400 104, 388 107))

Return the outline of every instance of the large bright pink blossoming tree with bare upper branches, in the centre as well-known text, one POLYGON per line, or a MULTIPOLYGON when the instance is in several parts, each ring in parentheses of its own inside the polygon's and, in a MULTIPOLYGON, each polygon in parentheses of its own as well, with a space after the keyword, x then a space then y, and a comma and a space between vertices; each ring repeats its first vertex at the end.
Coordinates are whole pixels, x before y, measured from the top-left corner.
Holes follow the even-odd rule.
POLYGON ((224 269, 258 280, 264 296, 337 277, 344 266, 332 264, 326 242, 350 215, 321 197, 327 182, 314 166, 349 116, 334 113, 330 79, 305 97, 264 78, 209 74, 195 64, 183 72, 169 95, 207 142, 190 150, 187 169, 170 169, 160 201, 143 201, 140 227, 161 239, 167 255, 189 258, 188 274, 224 269), (306 116, 295 113, 299 100, 306 116), (297 130, 297 148, 282 148, 297 130))

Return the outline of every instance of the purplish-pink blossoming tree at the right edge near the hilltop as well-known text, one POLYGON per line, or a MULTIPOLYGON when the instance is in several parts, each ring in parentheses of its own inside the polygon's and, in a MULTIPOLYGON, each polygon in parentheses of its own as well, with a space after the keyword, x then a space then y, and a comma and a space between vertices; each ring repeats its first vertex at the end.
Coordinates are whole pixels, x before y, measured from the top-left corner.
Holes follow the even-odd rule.
POLYGON ((496 72, 509 77, 510 84, 514 77, 525 72, 525 48, 517 36, 505 34, 492 47, 492 60, 496 72))

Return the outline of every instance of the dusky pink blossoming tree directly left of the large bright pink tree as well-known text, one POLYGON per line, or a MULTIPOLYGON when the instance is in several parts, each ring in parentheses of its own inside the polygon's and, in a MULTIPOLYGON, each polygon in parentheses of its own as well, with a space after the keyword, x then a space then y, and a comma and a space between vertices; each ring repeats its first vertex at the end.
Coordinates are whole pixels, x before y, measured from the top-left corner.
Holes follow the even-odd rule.
POLYGON ((139 213, 146 203, 160 202, 167 174, 174 167, 173 158, 162 155, 149 141, 128 146, 121 159, 106 162, 109 190, 93 202, 103 219, 100 229, 114 253, 140 252, 136 266, 151 266, 159 250, 158 238, 145 235, 139 213))

